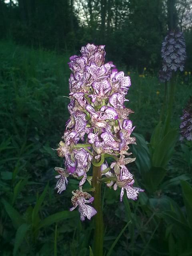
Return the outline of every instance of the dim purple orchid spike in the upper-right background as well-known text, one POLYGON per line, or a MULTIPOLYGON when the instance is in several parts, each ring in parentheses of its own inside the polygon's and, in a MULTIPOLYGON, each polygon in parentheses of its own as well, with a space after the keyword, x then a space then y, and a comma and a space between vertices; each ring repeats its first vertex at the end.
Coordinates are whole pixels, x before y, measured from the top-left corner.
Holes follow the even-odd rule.
POLYGON ((183 33, 178 29, 168 32, 162 43, 162 70, 159 73, 161 82, 169 81, 172 71, 183 71, 186 60, 186 45, 183 33))

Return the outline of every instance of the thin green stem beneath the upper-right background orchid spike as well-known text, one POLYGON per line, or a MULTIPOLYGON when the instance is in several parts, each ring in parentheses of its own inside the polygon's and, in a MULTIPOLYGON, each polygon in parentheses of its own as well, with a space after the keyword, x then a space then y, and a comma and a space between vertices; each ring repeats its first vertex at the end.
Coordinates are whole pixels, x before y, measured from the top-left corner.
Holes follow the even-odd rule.
POLYGON ((172 72, 172 78, 170 81, 170 90, 169 90, 168 114, 167 114, 166 121, 165 121, 164 135, 166 135, 170 129, 170 121, 171 121, 172 110, 173 110, 174 94, 175 94, 175 76, 174 76, 174 72, 172 72))

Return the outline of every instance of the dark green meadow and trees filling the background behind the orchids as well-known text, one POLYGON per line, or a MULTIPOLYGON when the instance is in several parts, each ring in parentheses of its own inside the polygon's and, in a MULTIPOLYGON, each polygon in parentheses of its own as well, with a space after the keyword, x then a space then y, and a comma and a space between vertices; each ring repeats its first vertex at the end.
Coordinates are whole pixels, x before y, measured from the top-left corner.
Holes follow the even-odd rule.
POLYGON ((120 203, 120 191, 103 186, 106 255, 192 256, 192 144, 179 141, 192 95, 190 0, 0 0, 0 255, 91 255, 92 222, 68 212, 78 183, 71 178, 65 192, 54 191, 62 159, 52 150, 69 116, 67 62, 88 42, 105 44, 106 60, 131 77, 138 145, 130 169, 145 189, 137 202, 120 203), (187 60, 176 74, 170 136, 158 141, 170 13, 184 32, 187 60))

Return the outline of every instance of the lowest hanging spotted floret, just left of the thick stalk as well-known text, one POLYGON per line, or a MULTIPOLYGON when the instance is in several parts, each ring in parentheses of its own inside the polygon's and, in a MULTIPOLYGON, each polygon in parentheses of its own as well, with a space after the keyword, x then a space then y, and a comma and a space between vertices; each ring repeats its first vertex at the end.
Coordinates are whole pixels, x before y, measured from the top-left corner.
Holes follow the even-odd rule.
POLYGON ((80 212, 80 219, 82 221, 85 220, 85 217, 90 220, 97 211, 90 205, 87 205, 88 203, 92 203, 94 200, 94 197, 92 197, 87 192, 82 192, 82 187, 80 187, 79 190, 72 191, 71 202, 73 204, 73 207, 70 208, 70 211, 73 211, 77 206, 79 206, 79 212, 80 212))

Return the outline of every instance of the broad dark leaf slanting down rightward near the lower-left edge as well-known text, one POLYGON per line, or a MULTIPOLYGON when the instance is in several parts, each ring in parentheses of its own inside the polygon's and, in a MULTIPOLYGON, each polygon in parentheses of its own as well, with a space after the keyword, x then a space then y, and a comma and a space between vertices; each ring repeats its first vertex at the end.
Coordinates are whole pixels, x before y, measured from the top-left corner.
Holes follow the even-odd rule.
POLYGON ((4 204, 7 214, 9 215, 10 219, 12 220, 12 224, 13 224, 14 228, 17 229, 23 223, 22 216, 6 200, 3 199, 2 202, 4 204))

